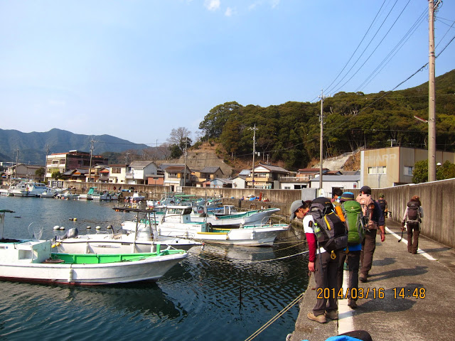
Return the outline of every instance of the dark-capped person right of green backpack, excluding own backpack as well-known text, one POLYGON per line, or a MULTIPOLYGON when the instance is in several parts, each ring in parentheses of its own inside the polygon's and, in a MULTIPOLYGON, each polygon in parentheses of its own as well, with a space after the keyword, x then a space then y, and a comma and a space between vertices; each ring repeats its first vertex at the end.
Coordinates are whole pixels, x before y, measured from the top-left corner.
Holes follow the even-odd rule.
MULTIPOLYGON (((368 194, 371 195, 371 188, 368 186, 363 186, 360 188, 360 194, 368 194)), ((376 249, 376 234, 378 231, 381 236, 381 242, 385 241, 385 219, 384 215, 382 214, 382 210, 380 209, 378 202, 374 202, 375 208, 373 210, 373 218, 372 220, 376 222, 378 225, 378 229, 370 229, 369 231, 365 232, 365 239, 363 239, 362 243, 362 251, 360 251, 360 276, 359 281, 366 282, 368 277, 368 272, 371 270, 371 266, 373 265, 373 254, 375 253, 376 249)))

